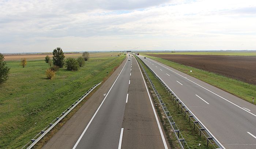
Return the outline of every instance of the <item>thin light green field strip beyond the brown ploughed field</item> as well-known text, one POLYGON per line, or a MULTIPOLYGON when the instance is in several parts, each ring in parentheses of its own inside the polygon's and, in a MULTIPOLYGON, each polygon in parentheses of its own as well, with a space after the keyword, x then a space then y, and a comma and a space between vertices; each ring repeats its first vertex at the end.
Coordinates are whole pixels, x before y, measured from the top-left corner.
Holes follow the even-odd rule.
POLYGON ((173 55, 232 55, 232 56, 256 56, 255 52, 140 52, 140 54, 173 54, 173 55))

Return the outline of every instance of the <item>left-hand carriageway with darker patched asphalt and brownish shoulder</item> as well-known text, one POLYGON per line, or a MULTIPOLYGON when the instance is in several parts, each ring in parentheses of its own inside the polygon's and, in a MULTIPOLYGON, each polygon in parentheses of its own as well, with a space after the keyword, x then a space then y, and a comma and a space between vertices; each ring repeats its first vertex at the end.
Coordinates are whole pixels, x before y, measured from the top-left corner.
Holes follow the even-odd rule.
POLYGON ((129 59, 44 149, 169 148, 139 65, 129 59))

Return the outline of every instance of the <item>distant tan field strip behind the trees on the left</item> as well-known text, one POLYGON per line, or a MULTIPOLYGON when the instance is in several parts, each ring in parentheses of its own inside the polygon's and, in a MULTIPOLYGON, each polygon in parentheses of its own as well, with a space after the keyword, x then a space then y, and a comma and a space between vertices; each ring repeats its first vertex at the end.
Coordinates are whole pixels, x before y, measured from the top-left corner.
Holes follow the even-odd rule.
MULTIPOLYGON (((96 52, 96 53, 90 53, 91 58, 96 57, 109 57, 109 56, 117 56, 119 52, 96 52)), ((36 55, 5 55, 4 60, 5 61, 14 61, 14 60, 20 60, 22 58, 26 58, 28 61, 31 60, 44 60, 45 56, 49 55, 52 58, 52 53, 49 54, 36 54, 36 55)), ((74 57, 78 58, 82 56, 82 53, 64 53, 65 57, 74 57)))

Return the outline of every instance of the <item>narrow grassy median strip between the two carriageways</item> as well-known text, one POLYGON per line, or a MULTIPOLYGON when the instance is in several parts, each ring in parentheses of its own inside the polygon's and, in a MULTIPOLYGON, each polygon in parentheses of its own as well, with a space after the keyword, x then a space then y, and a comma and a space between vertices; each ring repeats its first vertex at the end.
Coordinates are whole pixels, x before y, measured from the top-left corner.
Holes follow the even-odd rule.
MULTIPOLYGON (((168 111, 170 112, 170 114, 173 117, 173 120, 179 127, 179 130, 180 130, 182 136, 184 137, 184 139, 186 140, 189 148, 192 148, 192 149, 214 149, 215 147, 212 145, 207 146, 206 138, 203 137, 203 135, 202 135, 202 137, 199 136, 199 130, 193 128, 193 122, 189 122, 188 117, 184 117, 184 112, 181 112, 181 109, 177 108, 177 104, 175 104, 175 101, 171 100, 170 96, 162 88, 162 86, 159 84, 159 82, 154 77, 154 75, 150 72, 150 70, 146 67, 146 65, 144 65, 141 60, 139 60, 139 61, 142 64, 142 66, 144 67, 144 69, 146 70, 148 76, 151 78, 152 82, 154 83, 155 88, 157 89, 158 93, 160 94, 162 100, 165 102, 165 105, 166 105, 168 111)), ((147 77, 145 76, 145 78, 147 78, 147 77)), ((151 89, 151 86, 148 86, 148 87, 151 89)), ((157 97, 155 97, 155 98, 157 98, 157 97)), ((154 101, 156 104, 159 103, 158 99, 155 99, 154 101)), ((166 117, 165 117, 165 119, 166 119, 166 117)), ((165 121, 162 120, 162 122, 165 122, 165 121)), ((169 122, 168 122, 168 125, 169 125, 169 122)), ((166 132, 166 133, 168 134, 169 132, 166 132)), ((170 136, 171 138, 169 138, 170 139, 169 143, 170 143, 171 147, 179 148, 177 143, 176 144, 173 143, 176 140, 176 137, 174 136, 174 132, 172 132, 172 133, 173 133, 173 136, 170 136)))

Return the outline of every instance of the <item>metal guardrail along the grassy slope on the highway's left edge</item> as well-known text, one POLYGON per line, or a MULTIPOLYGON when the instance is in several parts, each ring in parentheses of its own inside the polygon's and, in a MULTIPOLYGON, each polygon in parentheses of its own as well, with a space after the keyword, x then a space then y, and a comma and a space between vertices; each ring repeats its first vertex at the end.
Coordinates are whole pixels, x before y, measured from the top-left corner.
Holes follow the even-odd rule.
MULTIPOLYGON (((101 82, 99 83, 101 84, 101 82)), ((86 93, 83 94, 78 100, 76 100, 71 106, 69 106, 64 112, 62 112, 58 117, 56 117, 45 129, 43 129, 40 133, 38 133, 30 142, 28 142, 25 146, 26 148, 31 142, 27 149, 31 149, 40 141, 54 126, 56 126, 72 109, 76 107, 88 94, 90 94, 99 84, 95 84, 92 88, 90 88, 86 93)))

